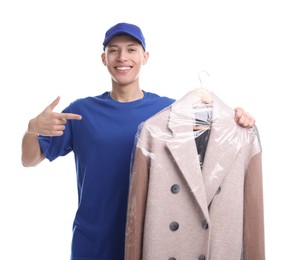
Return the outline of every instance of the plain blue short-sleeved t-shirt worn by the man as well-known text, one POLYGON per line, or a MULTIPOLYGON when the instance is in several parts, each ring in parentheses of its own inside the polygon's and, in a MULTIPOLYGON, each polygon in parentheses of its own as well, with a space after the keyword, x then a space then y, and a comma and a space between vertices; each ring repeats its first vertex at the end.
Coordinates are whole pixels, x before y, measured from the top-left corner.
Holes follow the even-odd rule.
POLYGON ((78 209, 73 222, 72 260, 124 259, 124 240, 131 154, 140 123, 175 100, 144 92, 144 98, 118 102, 110 92, 78 99, 65 113, 68 120, 59 137, 39 136, 50 161, 73 151, 78 209))

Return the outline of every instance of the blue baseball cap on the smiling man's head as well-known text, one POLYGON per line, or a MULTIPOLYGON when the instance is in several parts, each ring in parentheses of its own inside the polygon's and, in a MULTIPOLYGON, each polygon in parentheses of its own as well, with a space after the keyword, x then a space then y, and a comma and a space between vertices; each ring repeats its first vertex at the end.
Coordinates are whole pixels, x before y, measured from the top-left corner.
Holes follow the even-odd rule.
POLYGON ((103 42, 103 50, 105 50, 108 42, 117 35, 127 34, 135 38, 143 47, 143 49, 146 49, 146 43, 144 35, 141 31, 141 29, 130 23, 118 23, 114 26, 112 26, 105 34, 105 39, 103 42))

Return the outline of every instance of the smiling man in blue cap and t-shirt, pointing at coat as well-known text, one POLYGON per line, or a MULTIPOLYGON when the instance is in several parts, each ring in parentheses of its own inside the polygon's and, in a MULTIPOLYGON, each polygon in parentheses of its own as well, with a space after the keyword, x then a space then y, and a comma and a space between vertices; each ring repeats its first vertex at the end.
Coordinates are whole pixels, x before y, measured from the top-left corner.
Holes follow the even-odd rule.
MULTIPOLYGON (((59 97, 31 119, 22 140, 22 163, 36 166, 74 153, 78 208, 73 223, 72 260, 120 260, 124 238, 130 160, 138 125, 175 100, 141 90, 139 75, 149 58, 141 29, 119 23, 103 42, 102 62, 112 88, 75 100, 54 112, 59 97)), ((238 108, 244 127, 255 123, 238 108)))

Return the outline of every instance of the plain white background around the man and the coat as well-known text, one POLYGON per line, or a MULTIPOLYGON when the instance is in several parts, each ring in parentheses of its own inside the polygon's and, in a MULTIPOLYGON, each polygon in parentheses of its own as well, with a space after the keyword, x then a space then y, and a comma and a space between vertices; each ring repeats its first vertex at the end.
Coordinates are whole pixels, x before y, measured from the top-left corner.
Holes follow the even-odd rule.
POLYGON ((110 90, 106 29, 138 24, 150 60, 142 89, 173 98, 200 86, 255 116, 263 146, 266 256, 295 252, 295 1, 6 0, 0 3, 0 259, 69 259, 73 154, 21 166, 30 118, 110 90))

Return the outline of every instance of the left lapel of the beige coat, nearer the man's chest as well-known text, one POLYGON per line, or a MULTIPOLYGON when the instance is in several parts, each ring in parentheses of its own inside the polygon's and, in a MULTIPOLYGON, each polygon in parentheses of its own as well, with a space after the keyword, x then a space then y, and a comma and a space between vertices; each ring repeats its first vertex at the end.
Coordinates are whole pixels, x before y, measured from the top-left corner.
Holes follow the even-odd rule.
POLYGON ((193 132, 196 112, 193 105, 197 101, 200 98, 192 91, 171 106, 168 126, 173 138, 167 142, 167 147, 204 216, 209 220, 206 191, 193 132))

